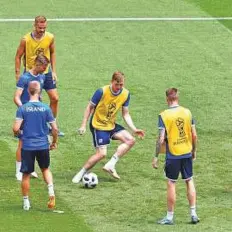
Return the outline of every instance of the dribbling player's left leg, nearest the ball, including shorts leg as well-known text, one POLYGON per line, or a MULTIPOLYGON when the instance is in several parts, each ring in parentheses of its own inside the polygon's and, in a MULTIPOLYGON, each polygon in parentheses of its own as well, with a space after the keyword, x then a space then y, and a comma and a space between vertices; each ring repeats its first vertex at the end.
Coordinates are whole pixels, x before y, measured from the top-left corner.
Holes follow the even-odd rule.
POLYGON ((82 169, 73 177, 72 182, 75 184, 79 183, 84 174, 97 162, 102 160, 107 154, 107 144, 110 143, 110 132, 96 130, 91 125, 90 131, 93 136, 93 143, 96 152, 87 160, 82 169))

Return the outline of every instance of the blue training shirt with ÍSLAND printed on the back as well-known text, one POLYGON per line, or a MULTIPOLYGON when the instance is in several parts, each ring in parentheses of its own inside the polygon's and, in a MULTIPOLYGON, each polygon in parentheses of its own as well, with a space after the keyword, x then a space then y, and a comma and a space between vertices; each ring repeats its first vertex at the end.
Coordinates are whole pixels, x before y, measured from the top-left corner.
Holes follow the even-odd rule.
POLYGON ((55 121, 50 107, 39 101, 29 101, 20 106, 16 120, 23 120, 21 137, 24 150, 44 150, 49 148, 48 125, 55 121))

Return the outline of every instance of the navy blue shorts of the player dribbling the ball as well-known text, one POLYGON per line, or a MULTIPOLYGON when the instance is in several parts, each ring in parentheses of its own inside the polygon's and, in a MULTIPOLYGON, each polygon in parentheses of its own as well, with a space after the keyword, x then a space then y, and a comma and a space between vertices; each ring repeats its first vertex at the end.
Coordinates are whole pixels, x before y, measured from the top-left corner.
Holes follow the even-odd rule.
POLYGON ((90 123, 90 131, 93 136, 94 147, 100 147, 103 145, 110 144, 110 139, 114 139, 114 134, 122 130, 125 130, 125 128, 119 124, 115 124, 115 128, 110 131, 97 130, 90 123))

